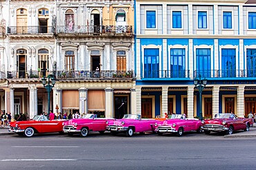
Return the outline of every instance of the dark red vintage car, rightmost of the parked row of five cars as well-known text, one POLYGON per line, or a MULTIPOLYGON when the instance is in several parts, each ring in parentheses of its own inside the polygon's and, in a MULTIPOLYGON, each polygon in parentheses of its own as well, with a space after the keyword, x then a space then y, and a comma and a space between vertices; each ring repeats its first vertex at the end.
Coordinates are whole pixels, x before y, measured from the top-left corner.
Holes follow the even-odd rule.
POLYGON ((202 129, 205 134, 211 131, 233 134, 233 131, 238 130, 249 131, 252 123, 251 118, 237 118, 235 114, 215 114, 214 118, 203 120, 202 129))

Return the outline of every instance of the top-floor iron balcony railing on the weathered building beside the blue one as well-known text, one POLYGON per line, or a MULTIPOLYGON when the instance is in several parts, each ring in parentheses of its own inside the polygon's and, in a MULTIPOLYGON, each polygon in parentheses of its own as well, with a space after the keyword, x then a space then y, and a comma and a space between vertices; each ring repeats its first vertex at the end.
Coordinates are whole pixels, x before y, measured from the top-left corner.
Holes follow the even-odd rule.
POLYGON ((107 33, 133 33, 129 25, 73 25, 72 27, 58 25, 57 33, 67 34, 107 34, 107 33))

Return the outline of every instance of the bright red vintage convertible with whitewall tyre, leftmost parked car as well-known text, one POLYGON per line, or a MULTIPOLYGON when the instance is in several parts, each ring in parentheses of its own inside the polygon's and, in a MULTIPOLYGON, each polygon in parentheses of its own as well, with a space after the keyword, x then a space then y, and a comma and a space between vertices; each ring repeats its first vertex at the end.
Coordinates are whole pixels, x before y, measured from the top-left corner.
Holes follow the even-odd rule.
POLYGON ((66 120, 48 120, 46 116, 36 115, 32 120, 11 122, 9 131, 26 137, 31 137, 36 133, 63 133, 62 123, 64 121, 66 120))

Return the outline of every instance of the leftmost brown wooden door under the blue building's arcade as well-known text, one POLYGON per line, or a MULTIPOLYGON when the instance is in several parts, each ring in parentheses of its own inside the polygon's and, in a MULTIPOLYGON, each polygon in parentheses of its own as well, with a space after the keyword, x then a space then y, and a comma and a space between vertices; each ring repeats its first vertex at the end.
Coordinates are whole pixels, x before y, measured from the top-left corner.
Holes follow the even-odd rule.
POLYGON ((141 98, 141 118, 152 118, 152 98, 141 98))

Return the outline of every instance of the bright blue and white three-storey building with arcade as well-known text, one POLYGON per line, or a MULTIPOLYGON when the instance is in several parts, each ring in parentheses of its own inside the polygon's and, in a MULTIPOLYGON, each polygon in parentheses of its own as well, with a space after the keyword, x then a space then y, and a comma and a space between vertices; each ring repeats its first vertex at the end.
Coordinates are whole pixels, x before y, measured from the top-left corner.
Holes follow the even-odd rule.
POLYGON ((256 112, 256 3, 136 1, 136 113, 256 112))

